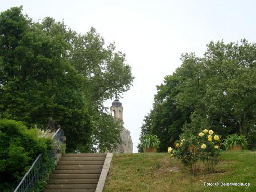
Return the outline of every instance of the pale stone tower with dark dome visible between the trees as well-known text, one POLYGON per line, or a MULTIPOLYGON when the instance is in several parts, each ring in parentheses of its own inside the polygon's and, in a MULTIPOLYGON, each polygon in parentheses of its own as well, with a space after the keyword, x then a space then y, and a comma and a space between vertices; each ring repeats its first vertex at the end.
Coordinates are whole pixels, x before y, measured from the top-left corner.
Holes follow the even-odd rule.
POLYGON ((131 140, 130 131, 124 128, 124 121, 123 121, 123 107, 122 103, 115 99, 112 102, 112 106, 110 107, 110 113, 115 118, 115 120, 119 120, 120 124, 123 126, 123 130, 120 133, 122 143, 118 145, 116 153, 132 153, 133 143, 131 140))

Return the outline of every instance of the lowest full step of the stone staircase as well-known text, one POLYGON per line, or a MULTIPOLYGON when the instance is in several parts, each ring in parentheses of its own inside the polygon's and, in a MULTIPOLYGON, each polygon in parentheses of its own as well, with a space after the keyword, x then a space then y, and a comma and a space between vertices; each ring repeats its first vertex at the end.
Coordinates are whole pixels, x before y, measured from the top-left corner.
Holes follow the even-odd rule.
POLYGON ((97 184, 62 184, 52 185, 47 184, 45 189, 96 189, 97 184))

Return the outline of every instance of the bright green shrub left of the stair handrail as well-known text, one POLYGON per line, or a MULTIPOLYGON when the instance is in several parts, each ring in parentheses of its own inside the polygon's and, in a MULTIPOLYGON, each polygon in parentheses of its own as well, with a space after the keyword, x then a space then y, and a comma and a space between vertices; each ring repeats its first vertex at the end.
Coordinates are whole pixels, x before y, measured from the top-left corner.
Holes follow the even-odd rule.
POLYGON ((22 122, 0 119, 0 190, 14 190, 36 157, 49 152, 51 143, 22 122))

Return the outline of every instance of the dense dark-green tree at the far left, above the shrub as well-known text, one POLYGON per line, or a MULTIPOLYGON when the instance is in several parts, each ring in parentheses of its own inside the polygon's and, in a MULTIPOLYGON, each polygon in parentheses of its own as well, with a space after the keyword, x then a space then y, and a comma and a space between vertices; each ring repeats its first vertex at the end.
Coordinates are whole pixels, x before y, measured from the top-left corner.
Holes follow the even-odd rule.
POLYGON ((61 32, 49 35, 21 10, 11 8, 0 16, 1 118, 45 125, 53 117, 63 125, 69 148, 90 142, 82 94, 86 78, 65 59, 69 44, 61 32))

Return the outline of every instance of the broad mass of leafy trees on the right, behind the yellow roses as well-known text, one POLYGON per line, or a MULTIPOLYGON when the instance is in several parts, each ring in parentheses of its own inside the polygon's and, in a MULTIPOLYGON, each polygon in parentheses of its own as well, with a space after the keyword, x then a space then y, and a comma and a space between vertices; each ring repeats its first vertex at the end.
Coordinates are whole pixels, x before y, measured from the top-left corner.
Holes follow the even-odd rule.
MULTIPOLYGON (((235 132, 253 133, 256 44, 246 40, 240 44, 211 42, 204 57, 183 54, 182 61, 173 75, 166 76, 164 84, 157 87, 153 109, 150 118, 145 118, 141 137, 144 132, 150 132, 159 138, 166 135, 173 141, 177 139, 177 131, 198 132, 205 127, 212 127, 224 137, 235 132), (169 132, 168 126, 173 126, 169 132)), ((167 140, 161 142, 166 150, 167 140)))

